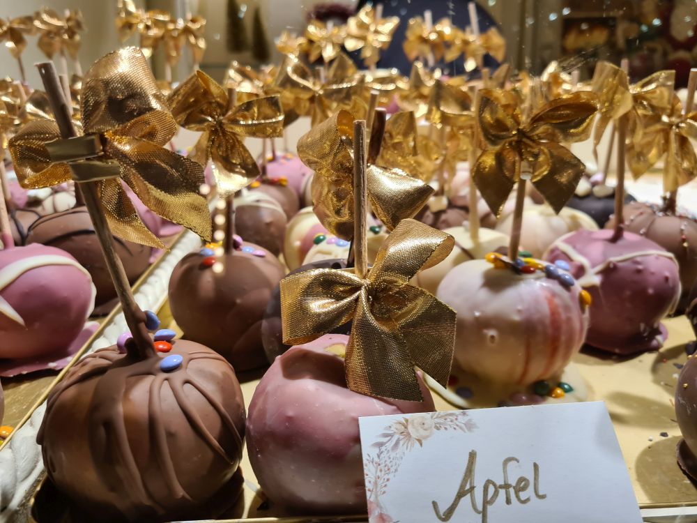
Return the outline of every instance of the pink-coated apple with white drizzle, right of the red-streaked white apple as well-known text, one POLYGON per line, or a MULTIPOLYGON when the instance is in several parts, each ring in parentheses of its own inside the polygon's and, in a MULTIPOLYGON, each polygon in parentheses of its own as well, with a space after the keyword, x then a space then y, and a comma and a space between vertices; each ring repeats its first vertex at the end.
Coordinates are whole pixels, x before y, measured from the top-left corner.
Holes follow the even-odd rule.
POLYGON ((615 242, 612 236, 580 229, 554 243, 545 259, 567 261, 590 293, 588 344, 617 354, 660 349, 660 321, 680 298, 677 262, 638 234, 625 232, 615 242))

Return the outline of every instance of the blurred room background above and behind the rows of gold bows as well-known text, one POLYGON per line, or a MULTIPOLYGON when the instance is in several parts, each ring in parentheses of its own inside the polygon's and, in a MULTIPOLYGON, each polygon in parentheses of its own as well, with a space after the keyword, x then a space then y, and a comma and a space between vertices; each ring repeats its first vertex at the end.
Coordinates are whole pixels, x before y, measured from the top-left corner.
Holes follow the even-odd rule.
MULTIPOLYGON (((206 18, 208 49, 201 68, 222 80, 231 60, 259 65, 277 62, 275 39, 283 30, 302 33, 311 17, 344 22, 364 0, 135 0, 137 8, 163 9, 174 17, 187 13, 206 18)), ((398 67, 408 73, 401 50, 406 22, 425 9, 434 20, 450 17, 458 26, 470 24, 467 0, 386 0, 385 15, 397 15, 402 23, 378 67, 398 67)), ((56 10, 80 9, 87 31, 79 52, 83 67, 121 46, 114 18, 117 0, 0 0, 4 18, 32 14, 42 6, 56 10)), ((572 62, 581 79, 590 77, 598 59, 619 63, 629 58, 633 79, 654 70, 673 68, 677 85, 687 83, 690 65, 697 53, 697 2, 694 0, 480 0, 477 18, 482 31, 498 26, 507 41, 505 61, 518 70, 540 73, 552 60, 572 62)), ((32 64, 42 60, 34 37, 22 55, 29 84, 38 85, 32 64)), ((137 36, 126 44, 137 44, 137 36)), ((162 49, 153 55, 153 66, 162 77, 162 49)), ((441 64, 450 73, 462 73, 461 64, 441 64)), ((183 79, 192 67, 185 53, 173 71, 173 80, 183 79)), ((0 75, 17 77, 17 63, 8 52, 0 53, 0 75)))

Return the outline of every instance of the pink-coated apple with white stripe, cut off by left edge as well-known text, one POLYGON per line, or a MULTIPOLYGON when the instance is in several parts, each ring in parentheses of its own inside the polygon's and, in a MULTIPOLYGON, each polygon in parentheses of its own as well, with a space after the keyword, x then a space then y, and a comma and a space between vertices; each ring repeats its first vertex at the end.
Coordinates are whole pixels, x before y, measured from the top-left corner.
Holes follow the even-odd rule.
POLYGON ((95 289, 89 274, 67 252, 33 243, 0 251, 0 298, 24 321, 22 325, 3 313, 0 303, 0 358, 31 358, 65 350, 77 338, 92 312, 95 289), (72 264, 47 259, 21 270, 22 260, 31 263, 39 256, 66 258, 72 264), (17 278, 7 276, 13 268, 20 268, 17 278))

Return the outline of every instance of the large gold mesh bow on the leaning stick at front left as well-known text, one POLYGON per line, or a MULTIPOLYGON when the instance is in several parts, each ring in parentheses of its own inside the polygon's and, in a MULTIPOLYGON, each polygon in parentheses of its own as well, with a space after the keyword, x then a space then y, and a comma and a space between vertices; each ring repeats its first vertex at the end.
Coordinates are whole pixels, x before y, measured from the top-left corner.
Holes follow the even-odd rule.
POLYGON ((164 248, 141 222, 124 181, 158 215, 210 238, 208 206, 198 192, 203 169, 162 147, 177 125, 140 50, 128 47, 96 61, 84 77, 81 107, 83 137, 61 140, 54 121, 36 120, 10 139, 22 186, 95 181, 116 236, 164 248))

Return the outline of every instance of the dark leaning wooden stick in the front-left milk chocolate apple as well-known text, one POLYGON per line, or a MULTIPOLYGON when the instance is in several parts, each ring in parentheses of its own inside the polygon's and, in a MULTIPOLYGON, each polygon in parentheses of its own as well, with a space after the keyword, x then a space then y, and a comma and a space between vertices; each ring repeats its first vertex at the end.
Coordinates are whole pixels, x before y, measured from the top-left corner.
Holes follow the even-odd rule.
MULTIPOLYGON (((61 89, 53 62, 38 63, 36 66, 43 80, 44 89, 49 103, 51 103, 56 123, 61 131, 61 137, 72 138, 77 136, 75 127, 72 125, 72 119, 70 119, 70 112, 68 112, 68 101, 63 97, 63 89, 61 89)), ((145 326, 146 316, 135 302, 135 298, 133 298, 133 293, 128 284, 128 277, 123 270, 123 264, 121 264, 121 259, 116 254, 114 238, 109 231, 107 218, 105 218, 101 208, 96 183, 76 183, 75 190, 82 190, 83 192, 87 211, 89 211, 95 234, 102 247, 109 275, 111 275, 114 281, 118 300, 121 301, 123 316, 132 335, 132 342, 126 344, 128 356, 139 359, 153 356, 155 348, 145 326)))

